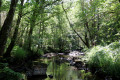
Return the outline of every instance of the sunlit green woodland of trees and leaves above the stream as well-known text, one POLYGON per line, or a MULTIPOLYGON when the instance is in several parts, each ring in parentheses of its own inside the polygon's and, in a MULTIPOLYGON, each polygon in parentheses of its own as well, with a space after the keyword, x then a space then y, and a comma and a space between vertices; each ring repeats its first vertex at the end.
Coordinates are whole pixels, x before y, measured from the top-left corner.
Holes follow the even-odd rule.
POLYGON ((0 53, 90 48, 119 40, 119 0, 1 0, 0 53))

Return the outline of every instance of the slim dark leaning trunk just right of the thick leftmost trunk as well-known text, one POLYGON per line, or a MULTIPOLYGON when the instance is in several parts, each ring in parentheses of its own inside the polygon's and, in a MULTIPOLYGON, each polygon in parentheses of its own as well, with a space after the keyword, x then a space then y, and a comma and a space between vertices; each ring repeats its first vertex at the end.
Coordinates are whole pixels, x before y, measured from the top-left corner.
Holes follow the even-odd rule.
POLYGON ((11 51, 12 51, 14 45, 15 45, 17 35, 18 35, 18 29, 19 29, 20 21, 21 21, 21 18, 22 18, 23 2, 24 2, 24 0, 21 0, 21 7, 19 9, 18 20, 17 20, 17 24, 16 24, 16 27, 15 27, 15 31, 14 31, 13 37, 11 39, 11 43, 8 46, 4 57, 10 57, 10 53, 11 53, 11 51))

